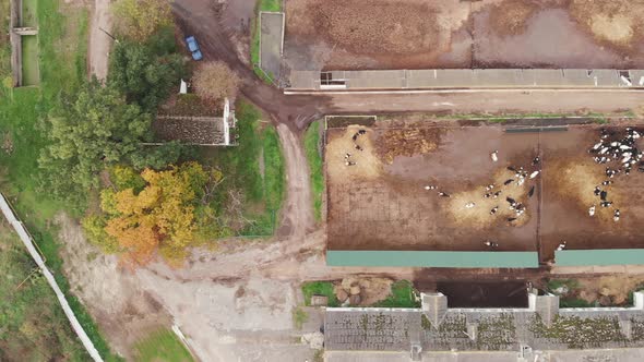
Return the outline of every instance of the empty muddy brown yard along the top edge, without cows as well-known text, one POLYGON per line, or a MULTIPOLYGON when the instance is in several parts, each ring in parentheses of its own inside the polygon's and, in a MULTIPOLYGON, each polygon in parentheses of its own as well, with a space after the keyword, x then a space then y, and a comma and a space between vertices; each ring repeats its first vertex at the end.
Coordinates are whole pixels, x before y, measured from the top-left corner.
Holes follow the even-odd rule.
POLYGON ((296 70, 644 64, 644 3, 628 0, 287 0, 285 8, 285 63, 296 70))

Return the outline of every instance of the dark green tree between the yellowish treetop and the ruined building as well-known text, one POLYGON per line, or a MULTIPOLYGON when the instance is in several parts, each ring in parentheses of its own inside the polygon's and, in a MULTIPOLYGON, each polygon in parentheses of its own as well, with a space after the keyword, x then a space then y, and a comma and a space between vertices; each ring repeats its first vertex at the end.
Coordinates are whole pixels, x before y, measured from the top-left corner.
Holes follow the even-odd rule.
POLYGON ((143 44, 119 41, 109 60, 108 84, 147 111, 154 111, 187 76, 184 61, 176 52, 174 32, 168 27, 143 44))

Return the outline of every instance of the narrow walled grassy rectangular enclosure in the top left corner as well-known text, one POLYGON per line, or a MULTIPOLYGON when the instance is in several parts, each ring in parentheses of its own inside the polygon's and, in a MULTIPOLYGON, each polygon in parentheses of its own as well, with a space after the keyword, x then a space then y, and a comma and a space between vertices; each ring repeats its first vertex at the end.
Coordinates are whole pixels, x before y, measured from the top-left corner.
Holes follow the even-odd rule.
POLYGON ((37 2, 11 0, 9 38, 11 41, 11 70, 13 86, 37 85, 38 69, 37 2))

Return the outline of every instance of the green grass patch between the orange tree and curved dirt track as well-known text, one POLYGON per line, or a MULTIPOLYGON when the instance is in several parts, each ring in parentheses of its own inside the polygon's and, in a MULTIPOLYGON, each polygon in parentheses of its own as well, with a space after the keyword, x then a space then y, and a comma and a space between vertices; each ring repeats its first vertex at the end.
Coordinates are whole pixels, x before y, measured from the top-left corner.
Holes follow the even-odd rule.
MULTIPOLYGON (((220 190, 239 189, 243 193, 243 216, 252 222, 239 230, 240 236, 272 236, 284 200, 284 156, 275 129, 262 123, 262 114, 252 105, 240 101, 236 107, 239 145, 228 148, 204 148, 201 162, 222 169, 225 182, 220 190), (260 169, 263 155, 264 174, 260 169)), ((226 195, 216 197, 216 209, 226 206, 226 195)))

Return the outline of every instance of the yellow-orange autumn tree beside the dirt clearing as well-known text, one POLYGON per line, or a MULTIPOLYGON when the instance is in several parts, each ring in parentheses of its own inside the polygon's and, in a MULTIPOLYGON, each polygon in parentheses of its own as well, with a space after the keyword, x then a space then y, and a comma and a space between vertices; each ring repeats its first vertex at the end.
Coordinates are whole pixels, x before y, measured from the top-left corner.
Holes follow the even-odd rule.
POLYGON ((132 188, 105 190, 102 208, 109 216, 105 231, 118 241, 126 262, 144 265, 157 250, 169 262, 181 261, 186 248, 196 241, 195 209, 208 207, 202 198, 213 176, 222 177, 187 162, 167 171, 144 170, 145 186, 139 193, 132 188))

